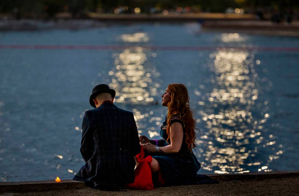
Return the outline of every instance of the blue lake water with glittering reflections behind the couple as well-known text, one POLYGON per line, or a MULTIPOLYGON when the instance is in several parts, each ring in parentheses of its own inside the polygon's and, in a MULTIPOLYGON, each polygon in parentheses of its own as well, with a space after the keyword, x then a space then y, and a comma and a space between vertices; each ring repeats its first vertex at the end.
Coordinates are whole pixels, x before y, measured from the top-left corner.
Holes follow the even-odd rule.
POLYGON ((96 84, 159 139, 161 94, 183 83, 199 173, 298 169, 299 39, 201 32, 196 23, 0 32, 1 181, 71 179, 96 84))

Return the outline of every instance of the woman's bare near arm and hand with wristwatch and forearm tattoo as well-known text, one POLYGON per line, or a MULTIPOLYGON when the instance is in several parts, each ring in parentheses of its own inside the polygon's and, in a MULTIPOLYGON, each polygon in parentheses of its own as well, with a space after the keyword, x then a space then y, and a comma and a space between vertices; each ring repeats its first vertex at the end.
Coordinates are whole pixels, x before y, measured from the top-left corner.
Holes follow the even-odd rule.
MULTIPOLYGON (((183 127, 179 122, 174 122, 170 126, 170 145, 159 147, 161 153, 176 153, 181 149, 183 141, 183 127)), ((148 143, 148 145, 143 146, 143 149, 153 153, 156 152, 156 147, 148 143)))

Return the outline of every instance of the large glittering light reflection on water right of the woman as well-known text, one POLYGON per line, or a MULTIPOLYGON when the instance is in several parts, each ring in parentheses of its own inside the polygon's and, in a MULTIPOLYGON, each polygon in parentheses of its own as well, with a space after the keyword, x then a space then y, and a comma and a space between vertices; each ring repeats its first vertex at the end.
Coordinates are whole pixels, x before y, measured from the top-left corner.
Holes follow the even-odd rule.
POLYGON ((256 103, 260 79, 254 70, 254 54, 219 50, 210 58, 214 88, 200 96, 199 105, 204 109, 198 111, 202 119, 197 119, 205 121, 208 130, 197 143, 196 154, 203 169, 215 173, 248 172, 252 171, 248 166, 258 165, 258 171, 267 170, 269 162, 283 151, 273 147, 267 160, 254 160, 261 148, 276 143, 263 127, 270 117, 267 102, 256 103))

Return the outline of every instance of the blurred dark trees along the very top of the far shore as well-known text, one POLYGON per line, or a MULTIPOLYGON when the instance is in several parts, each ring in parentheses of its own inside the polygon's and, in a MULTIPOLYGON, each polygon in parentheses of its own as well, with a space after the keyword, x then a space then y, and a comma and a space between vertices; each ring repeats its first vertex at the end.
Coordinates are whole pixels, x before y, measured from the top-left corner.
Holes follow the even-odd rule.
MULTIPOLYGON (((204 12, 225 12, 231 8, 277 9, 280 13, 293 13, 298 9, 298 0, 0 0, 0 13, 21 17, 53 17, 57 12, 70 11, 74 18, 84 16, 86 11, 102 10, 112 13, 120 6, 128 10, 139 7, 142 13, 149 13, 153 7, 176 9, 177 7, 195 7, 204 12)), ((254 12, 254 11, 253 11, 254 12)))

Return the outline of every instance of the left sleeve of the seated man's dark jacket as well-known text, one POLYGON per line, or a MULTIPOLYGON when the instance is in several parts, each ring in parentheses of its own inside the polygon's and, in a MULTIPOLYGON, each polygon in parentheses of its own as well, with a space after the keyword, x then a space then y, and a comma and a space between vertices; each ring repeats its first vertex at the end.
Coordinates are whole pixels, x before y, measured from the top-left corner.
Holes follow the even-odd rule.
POLYGON ((90 122, 87 112, 85 112, 83 122, 82 122, 82 140, 80 152, 85 162, 87 162, 93 154, 94 148, 92 143, 92 128, 90 127, 90 122))

